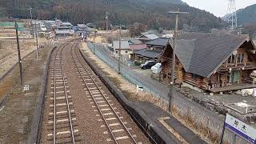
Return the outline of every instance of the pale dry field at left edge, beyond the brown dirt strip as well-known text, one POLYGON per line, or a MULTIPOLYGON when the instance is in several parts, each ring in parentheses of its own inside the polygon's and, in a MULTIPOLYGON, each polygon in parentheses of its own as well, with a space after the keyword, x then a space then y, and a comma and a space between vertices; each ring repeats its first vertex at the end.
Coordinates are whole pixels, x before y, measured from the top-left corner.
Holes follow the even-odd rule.
MULTIPOLYGON (((20 39, 20 50, 22 58, 33 50, 36 50, 35 39, 20 39)), ((46 45, 45 38, 38 39, 38 45, 46 45)), ((18 62, 18 50, 16 39, 0 39, 0 77, 5 74, 11 66, 18 62)))

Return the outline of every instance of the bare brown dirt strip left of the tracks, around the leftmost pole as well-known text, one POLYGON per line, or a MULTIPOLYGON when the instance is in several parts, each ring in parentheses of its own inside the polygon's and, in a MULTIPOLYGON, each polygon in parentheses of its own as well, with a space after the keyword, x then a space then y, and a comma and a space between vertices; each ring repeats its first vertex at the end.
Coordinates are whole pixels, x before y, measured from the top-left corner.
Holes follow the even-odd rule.
POLYGON ((38 103, 46 58, 50 52, 50 46, 47 47, 41 51, 38 61, 34 60, 35 54, 32 54, 22 62, 24 85, 30 86, 29 91, 23 91, 23 86, 19 83, 18 66, 0 83, 0 99, 6 98, 0 106, 1 144, 26 143, 31 130, 34 108, 38 103))

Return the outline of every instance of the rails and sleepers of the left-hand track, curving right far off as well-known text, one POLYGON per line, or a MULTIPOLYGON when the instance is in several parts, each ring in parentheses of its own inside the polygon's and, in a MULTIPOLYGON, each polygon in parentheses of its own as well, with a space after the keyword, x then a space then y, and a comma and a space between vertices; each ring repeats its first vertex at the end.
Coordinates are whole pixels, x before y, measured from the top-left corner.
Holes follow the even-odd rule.
MULTIPOLYGON (((70 143, 75 143, 75 138, 74 138, 74 132, 78 132, 78 130, 74 130, 74 118, 72 118, 72 111, 70 108, 70 105, 72 102, 70 102, 70 96, 69 96, 69 90, 67 86, 67 78, 64 70, 64 63, 62 62, 62 51, 63 49, 69 45, 69 42, 66 44, 60 46, 58 50, 56 50, 56 54, 54 55, 53 58, 53 66, 51 70, 53 70, 54 74, 54 110, 53 110, 53 133, 48 134, 48 136, 53 136, 53 143, 57 143, 57 135, 58 134, 70 134, 69 136, 66 136, 62 139, 64 139, 65 142, 69 142, 69 139, 71 138, 70 143), (57 90, 58 89, 58 90, 57 90), (64 93, 64 95, 62 95, 64 93), (64 102, 62 102, 64 100, 64 102), (66 109, 64 108, 66 105, 66 109), (64 109, 64 110, 63 110, 64 109), (62 111, 58 111, 62 110, 62 111), (68 119, 60 119, 58 118, 65 118, 67 117, 68 119), (57 126, 57 122, 66 122, 68 121, 69 126, 63 126, 63 124, 60 124, 61 126, 57 126), (67 127, 69 127, 70 130, 66 130, 67 127), (63 131, 66 130, 66 131, 63 131)), ((52 74, 52 75, 53 75, 52 74)), ((51 76, 52 76, 51 75, 51 76)))

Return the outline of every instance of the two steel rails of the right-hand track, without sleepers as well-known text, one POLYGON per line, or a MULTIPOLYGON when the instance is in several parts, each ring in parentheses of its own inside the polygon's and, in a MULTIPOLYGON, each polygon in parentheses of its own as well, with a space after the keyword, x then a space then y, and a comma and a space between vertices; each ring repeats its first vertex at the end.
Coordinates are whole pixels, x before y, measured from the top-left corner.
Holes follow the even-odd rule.
MULTIPOLYGON (((78 44, 76 44, 76 46, 78 46, 78 44)), ((72 48, 73 48, 73 47, 72 47, 72 48)), ((72 48, 71 48, 71 50, 72 50, 72 48)), ((78 54, 76 53, 75 50, 74 50, 74 54, 75 54, 76 57, 78 58, 78 54)), ((73 56, 73 54, 72 54, 72 51, 71 51, 71 56, 72 56, 72 58, 73 58, 73 60, 74 60, 74 56, 73 56)), ((79 61, 80 65, 83 67, 83 69, 86 70, 86 73, 90 76, 91 80, 94 82, 94 85, 98 88, 99 92, 102 94, 102 97, 106 100, 106 102, 107 102, 108 105, 110 106, 111 110, 114 111, 115 116, 116 116, 116 117, 118 118, 118 120, 122 123, 122 126, 126 129, 126 132, 130 135, 130 138, 132 138, 133 142, 137 144, 137 142, 135 141, 135 139, 134 139, 134 137, 132 136, 132 134, 130 134, 130 131, 127 129, 127 127, 125 126, 125 124, 122 122, 122 119, 118 116, 118 114, 117 114, 117 112, 114 110, 113 106, 111 106, 109 100, 107 100, 107 98, 106 98, 105 95, 103 94, 102 90, 100 90, 98 84, 94 81, 94 78, 92 78, 92 76, 89 74, 87 68, 82 64, 82 61, 81 61, 80 58, 78 58, 78 61, 79 61)), ((75 65, 76 65, 76 67, 78 68, 76 62, 74 62, 74 63, 75 63, 75 65)), ((78 72, 79 72, 80 76, 82 77, 81 71, 78 70, 78 72)), ((85 81, 85 79, 84 79, 83 77, 82 77, 82 80, 83 80, 83 82, 86 84, 86 81, 85 81)), ((87 84, 86 84, 86 88, 87 88, 87 90, 89 90, 91 97, 94 99, 93 94, 91 93, 91 91, 90 91, 90 89, 89 89, 89 86, 88 86, 87 84)), ((94 99, 94 103, 96 104, 96 106, 98 107, 98 110, 99 110, 100 113, 102 114, 102 111, 99 109, 98 103, 95 101, 95 99, 94 99)), ((106 119, 104 118, 103 114, 102 114, 102 118, 104 119, 104 122, 106 123, 106 126, 108 127, 108 129, 109 129, 109 131, 110 131, 110 134, 111 134, 112 137, 114 138, 114 141, 115 141, 116 143, 118 143, 117 140, 116 140, 116 138, 114 137, 114 134, 113 134, 112 130, 110 129, 110 126, 109 126, 108 123, 106 122, 106 119)))

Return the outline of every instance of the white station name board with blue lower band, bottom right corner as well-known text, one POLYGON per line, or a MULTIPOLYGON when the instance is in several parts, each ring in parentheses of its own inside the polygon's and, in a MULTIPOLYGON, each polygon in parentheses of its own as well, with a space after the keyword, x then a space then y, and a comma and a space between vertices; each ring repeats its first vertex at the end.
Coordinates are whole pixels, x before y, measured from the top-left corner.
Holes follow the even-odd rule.
POLYGON ((230 114, 226 114, 225 126, 248 142, 256 144, 256 129, 252 126, 232 117, 230 114))

